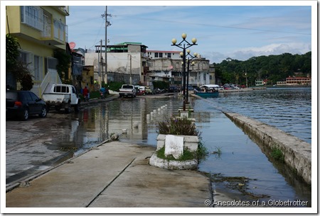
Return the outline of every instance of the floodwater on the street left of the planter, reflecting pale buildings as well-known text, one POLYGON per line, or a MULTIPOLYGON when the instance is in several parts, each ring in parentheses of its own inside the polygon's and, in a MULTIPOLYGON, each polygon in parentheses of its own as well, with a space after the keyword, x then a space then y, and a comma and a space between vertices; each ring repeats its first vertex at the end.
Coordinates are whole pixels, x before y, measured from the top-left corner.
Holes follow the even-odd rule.
POLYGON ((79 113, 66 115, 53 137, 60 149, 78 149, 75 155, 117 133, 121 141, 156 146, 156 127, 160 120, 178 114, 181 98, 118 98, 79 113))

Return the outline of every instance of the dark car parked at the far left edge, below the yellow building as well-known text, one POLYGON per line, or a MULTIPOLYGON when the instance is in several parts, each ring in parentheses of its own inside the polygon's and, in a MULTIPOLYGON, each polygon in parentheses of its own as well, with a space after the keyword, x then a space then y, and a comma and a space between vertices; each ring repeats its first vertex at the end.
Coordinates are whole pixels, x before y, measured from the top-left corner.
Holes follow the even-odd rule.
POLYGON ((46 103, 32 91, 6 91, 6 118, 28 120, 30 115, 46 117, 46 103))

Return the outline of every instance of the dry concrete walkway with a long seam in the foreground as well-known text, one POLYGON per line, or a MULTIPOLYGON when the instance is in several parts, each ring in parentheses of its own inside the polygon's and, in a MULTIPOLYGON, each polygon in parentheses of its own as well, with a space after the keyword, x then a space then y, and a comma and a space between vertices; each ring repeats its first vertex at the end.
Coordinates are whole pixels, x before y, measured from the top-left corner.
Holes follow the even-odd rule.
POLYGON ((210 180, 149 165, 154 147, 109 142, 6 193, 6 208, 206 208, 210 180))

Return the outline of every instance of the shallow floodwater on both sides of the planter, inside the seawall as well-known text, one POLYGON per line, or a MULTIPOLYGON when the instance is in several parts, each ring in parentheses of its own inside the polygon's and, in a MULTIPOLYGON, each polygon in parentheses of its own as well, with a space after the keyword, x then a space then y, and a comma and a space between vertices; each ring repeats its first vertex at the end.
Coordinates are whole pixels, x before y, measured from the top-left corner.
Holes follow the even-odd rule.
MULTIPOLYGON (((216 103, 193 98, 190 101, 195 110, 193 118, 196 118, 197 128, 209 152, 217 148, 222 152, 220 157, 210 154, 206 161, 199 164, 200 171, 250 178, 252 180, 247 184, 250 193, 262 195, 262 198, 266 195, 266 199, 311 200, 311 189, 292 178, 285 172, 286 169, 272 164, 260 147, 216 108, 216 103)), ((70 121, 63 127, 68 127, 70 134, 67 137, 57 136, 56 139, 78 147, 75 154, 107 140, 112 133, 120 134, 119 139, 123 142, 156 147, 159 121, 178 115, 181 105, 181 98, 178 97, 118 98, 69 115, 70 121), (126 133, 122 133, 124 130, 126 133)), ((214 186, 234 198, 243 198, 233 189, 228 191, 223 183, 215 183, 214 186)))

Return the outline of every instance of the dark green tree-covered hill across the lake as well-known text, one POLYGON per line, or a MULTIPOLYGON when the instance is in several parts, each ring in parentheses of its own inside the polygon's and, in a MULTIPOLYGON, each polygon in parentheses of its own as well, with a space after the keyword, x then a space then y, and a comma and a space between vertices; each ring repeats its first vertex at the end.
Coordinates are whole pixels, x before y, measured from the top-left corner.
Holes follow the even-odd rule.
MULTIPOLYGON (((256 79, 267 79, 267 84, 285 81, 288 76, 311 76, 311 52, 304 55, 269 55, 252 57, 246 61, 227 58, 219 64, 213 64, 215 76, 221 84, 233 83, 254 86, 256 79)), ((220 83, 219 83, 220 84, 220 83)))

